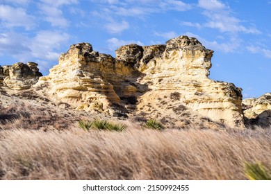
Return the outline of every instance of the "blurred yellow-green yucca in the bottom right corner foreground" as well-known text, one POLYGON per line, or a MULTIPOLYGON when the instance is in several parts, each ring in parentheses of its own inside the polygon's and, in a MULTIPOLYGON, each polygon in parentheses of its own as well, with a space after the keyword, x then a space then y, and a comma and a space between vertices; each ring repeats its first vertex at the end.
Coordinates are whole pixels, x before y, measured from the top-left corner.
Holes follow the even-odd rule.
POLYGON ((271 180, 271 173, 261 163, 246 163, 245 175, 250 180, 271 180))

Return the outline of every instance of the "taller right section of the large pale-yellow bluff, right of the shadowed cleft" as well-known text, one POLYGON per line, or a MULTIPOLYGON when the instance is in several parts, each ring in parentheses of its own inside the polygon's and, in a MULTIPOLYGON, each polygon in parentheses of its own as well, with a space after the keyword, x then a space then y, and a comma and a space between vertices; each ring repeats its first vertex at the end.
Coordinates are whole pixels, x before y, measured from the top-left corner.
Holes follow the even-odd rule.
POLYGON ((242 89, 208 78, 212 55, 195 38, 170 39, 163 54, 142 70, 145 76, 139 82, 147 84, 149 91, 138 98, 138 113, 176 116, 173 109, 186 105, 213 121, 243 126, 242 89), (180 99, 169 99, 176 92, 180 99))

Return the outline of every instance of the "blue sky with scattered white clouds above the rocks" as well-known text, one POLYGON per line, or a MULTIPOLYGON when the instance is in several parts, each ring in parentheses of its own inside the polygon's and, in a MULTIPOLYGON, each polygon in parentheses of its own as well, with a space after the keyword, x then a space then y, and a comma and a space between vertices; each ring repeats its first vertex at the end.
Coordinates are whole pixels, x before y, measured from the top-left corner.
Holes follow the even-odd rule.
POLYGON ((244 98, 271 92, 271 0, 0 0, 0 64, 58 64, 70 44, 115 55, 124 44, 197 37, 215 51, 210 78, 244 98))

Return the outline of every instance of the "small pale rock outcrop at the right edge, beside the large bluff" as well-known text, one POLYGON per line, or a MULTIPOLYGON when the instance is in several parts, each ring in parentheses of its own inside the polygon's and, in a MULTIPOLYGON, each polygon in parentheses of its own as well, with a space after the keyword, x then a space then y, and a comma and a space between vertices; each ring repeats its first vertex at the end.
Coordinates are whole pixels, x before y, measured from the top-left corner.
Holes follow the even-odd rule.
POLYGON ((243 100, 245 121, 248 125, 271 125, 271 93, 263 94, 259 98, 243 100))

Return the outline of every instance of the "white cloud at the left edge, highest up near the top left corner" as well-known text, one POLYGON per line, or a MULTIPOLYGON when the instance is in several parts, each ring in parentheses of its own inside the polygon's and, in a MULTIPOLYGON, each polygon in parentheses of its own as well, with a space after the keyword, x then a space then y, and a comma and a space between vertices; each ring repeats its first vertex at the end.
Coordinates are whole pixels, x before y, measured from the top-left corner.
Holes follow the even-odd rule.
POLYGON ((24 8, 0 5, 0 21, 7 28, 24 27, 27 30, 35 26, 34 17, 28 15, 24 8))

